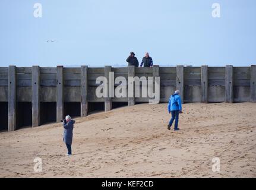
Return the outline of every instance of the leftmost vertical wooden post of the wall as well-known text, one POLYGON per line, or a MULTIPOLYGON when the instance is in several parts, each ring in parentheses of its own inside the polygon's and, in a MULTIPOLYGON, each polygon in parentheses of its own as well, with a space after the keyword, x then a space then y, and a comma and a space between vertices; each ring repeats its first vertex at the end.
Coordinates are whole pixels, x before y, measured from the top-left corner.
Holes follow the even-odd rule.
POLYGON ((8 131, 16 129, 16 66, 8 68, 8 131))

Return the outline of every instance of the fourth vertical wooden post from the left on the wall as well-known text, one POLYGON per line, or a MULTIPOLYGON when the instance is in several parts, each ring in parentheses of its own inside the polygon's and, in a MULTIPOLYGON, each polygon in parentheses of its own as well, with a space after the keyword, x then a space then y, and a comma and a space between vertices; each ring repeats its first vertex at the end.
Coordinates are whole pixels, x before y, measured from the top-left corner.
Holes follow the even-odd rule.
POLYGON ((88 115, 88 66, 81 66, 81 117, 88 115))

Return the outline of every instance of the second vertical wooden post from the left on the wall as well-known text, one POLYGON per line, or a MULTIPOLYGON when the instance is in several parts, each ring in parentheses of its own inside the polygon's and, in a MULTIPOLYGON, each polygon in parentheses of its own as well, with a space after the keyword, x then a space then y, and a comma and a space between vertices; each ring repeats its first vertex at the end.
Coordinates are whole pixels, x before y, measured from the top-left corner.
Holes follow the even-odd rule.
POLYGON ((32 127, 40 125, 40 68, 32 66, 32 127))

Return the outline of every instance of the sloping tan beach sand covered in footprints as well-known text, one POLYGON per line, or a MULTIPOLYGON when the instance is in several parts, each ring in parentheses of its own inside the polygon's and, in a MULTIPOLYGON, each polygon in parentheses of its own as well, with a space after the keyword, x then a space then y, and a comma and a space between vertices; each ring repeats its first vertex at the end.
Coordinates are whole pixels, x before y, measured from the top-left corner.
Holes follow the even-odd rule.
POLYGON ((167 104, 77 118, 65 156, 62 125, 0 134, 0 177, 255 178, 256 103, 187 103, 181 131, 167 131, 167 104), (43 170, 33 170, 35 157, 43 170), (219 157, 220 172, 212 159, 219 157))

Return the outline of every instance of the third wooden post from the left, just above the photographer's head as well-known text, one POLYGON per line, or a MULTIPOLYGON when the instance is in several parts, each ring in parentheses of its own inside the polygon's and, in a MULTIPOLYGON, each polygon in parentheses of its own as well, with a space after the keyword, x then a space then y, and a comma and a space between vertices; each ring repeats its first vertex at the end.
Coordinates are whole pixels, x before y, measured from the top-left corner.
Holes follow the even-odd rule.
POLYGON ((64 119, 64 80, 63 66, 57 66, 57 88, 56 88, 56 122, 61 122, 64 119))

